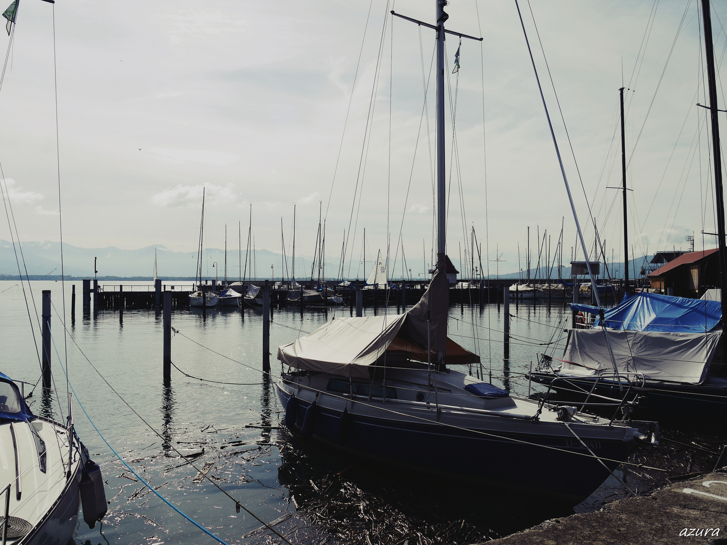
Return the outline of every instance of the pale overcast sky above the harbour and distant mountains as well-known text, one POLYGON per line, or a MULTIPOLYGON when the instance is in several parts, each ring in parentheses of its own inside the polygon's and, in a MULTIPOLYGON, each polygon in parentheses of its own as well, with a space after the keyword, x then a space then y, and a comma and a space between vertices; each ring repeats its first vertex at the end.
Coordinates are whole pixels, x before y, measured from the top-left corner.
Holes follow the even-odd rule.
MULTIPOLYGON (((715 246, 698 4, 521 1, 585 243, 590 205, 608 261, 623 259, 621 86, 630 251, 715 246)), ((719 70, 727 1, 712 6, 719 70)), ((21 1, 0 89, 20 239, 59 240, 60 172, 74 246, 195 251, 204 187, 206 246, 225 226, 228 247, 246 246, 252 208, 254 246, 280 253, 282 231, 289 254, 295 207, 299 255, 324 217, 327 271, 344 253, 345 275, 362 274, 364 228, 368 262, 387 247, 394 270, 402 247, 431 262, 434 31, 391 9, 435 22, 433 0, 21 1)), ((535 267, 562 222, 569 262, 574 219, 515 3, 446 11, 447 28, 483 37, 462 40, 458 73, 446 41, 448 254, 469 261, 474 228, 475 265, 525 269, 530 227, 535 267)), ((721 80, 718 94, 724 109, 721 80)))

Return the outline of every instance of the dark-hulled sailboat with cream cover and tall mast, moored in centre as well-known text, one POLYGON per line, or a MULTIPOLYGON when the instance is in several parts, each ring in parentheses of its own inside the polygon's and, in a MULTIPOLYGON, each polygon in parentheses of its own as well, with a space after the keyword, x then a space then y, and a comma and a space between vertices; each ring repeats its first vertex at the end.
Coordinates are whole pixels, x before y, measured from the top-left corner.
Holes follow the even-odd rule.
POLYGON ((658 443, 658 428, 517 397, 448 367, 480 361, 447 336, 445 255, 444 33, 473 37, 446 31, 446 1, 435 5, 437 25, 404 17, 437 31, 435 273, 401 315, 336 318, 278 347, 285 424, 357 456, 577 504, 640 443, 658 443))

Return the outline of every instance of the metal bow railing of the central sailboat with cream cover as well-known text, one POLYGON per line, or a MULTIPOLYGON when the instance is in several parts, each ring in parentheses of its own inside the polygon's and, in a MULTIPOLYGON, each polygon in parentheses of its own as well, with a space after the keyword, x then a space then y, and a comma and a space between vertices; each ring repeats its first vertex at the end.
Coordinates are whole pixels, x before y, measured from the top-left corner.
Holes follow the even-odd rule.
POLYGON ((550 400, 548 396, 551 390, 558 389, 565 390, 574 394, 585 395, 585 399, 581 402, 574 403, 580 405, 579 412, 585 411, 585 408, 608 408, 616 407, 613 416, 611 416, 610 423, 612 424, 616 420, 616 416, 619 415, 619 411, 624 409, 624 415, 628 415, 631 412, 632 405, 634 404, 632 392, 634 389, 642 388, 645 380, 641 373, 627 372, 627 373, 601 373, 592 376, 555 376, 547 385, 547 391, 545 395, 539 400, 537 415, 539 415, 546 403, 548 405, 563 405, 561 401, 550 400), (590 389, 582 387, 582 383, 590 382, 588 384, 590 389), (581 383, 581 384, 578 384, 581 383), (563 385, 561 385, 563 384, 563 385), (609 397, 597 392, 597 388, 608 387, 611 391, 617 391, 619 397, 609 397))

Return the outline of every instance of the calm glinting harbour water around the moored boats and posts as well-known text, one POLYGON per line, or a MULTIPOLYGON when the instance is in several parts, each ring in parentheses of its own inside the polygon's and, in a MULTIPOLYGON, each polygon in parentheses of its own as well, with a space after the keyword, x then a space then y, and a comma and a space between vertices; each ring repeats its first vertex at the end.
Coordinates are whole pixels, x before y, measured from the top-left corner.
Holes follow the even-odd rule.
MULTIPOLYGON (((545 509, 526 512, 502 505, 499 509, 481 509, 475 500, 455 501, 463 497, 462 492, 442 483, 390 475, 385 468, 366 467, 321 452, 315 445, 301 445, 297 437, 279 429, 282 408, 273 383, 260 372, 260 310, 212 310, 206 318, 201 310, 173 312, 172 326, 179 334, 172 339, 172 361, 186 374, 217 382, 202 382, 172 368, 171 385, 164 387, 161 315, 145 310, 125 311, 123 315, 107 311, 84 318, 81 283, 76 281, 79 312, 71 325, 72 283, 65 286, 65 307, 69 331, 78 347, 69 338, 67 352, 70 381, 78 401, 111 447, 138 475, 182 512, 230 544, 273 543, 279 538, 273 539, 270 532, 256 532, 260 522, 244 510, 236 512, 235 501, 201 478, 188 461, 260 519, 270 522, 282 517, 276 529, 292 543, 345 543, 344 538, 335 535, 337 526, 366 526, 372 506, 385 510, 390 520, 418 528, 425 538, 434 540, 434 536, 449 532, 446 535, 451 541, 470 543, 527 528, 553 514, 545 509), (103 382, 86 358, 148 426, 103 382), (199 455, 180 458, 169 445, 184 454, 199 455), (334 493, 329 493, 326 501, 321 501, 321 487, 334 493), (351 514, 353 504, 357 507, 351 514), (361 516, 356 520, 359 510, 361 516), (461 524, 451 522, 459 520, 461 524)), ((125 283, 125 289, 130 284, 125 283)), ((42 289, 52 290, 55 310, 63 312, 60 282, 36 282, 32 287, 39 314, 42 289)), ((0 282, 0 309, 0 346, 4 350, 0 370, 14 379, 36 382, 40 366, 20 283, 0 282)), ((366 315, 373 312, 365 310, 366 315)), ((389 312, 395 313, 396 308, 389 312)), ((529 370, 536 352, 555 346, 559 339, 562 345, 569 312, 559 304, 549 309, 547 304, 530 303, 518 307, 512 304, 510 313, 515 318, 511 319, 513 343, 508 362, 502 359, 504 318, 497 304, 486 305, 483 310, 453 304, 450 334, 481 355, 482 368, 473 373, 482 372, 486 377, 491 374, 495 384, 526 395, 528 384, 522 374, 529 370)), ((32 303, 31 315, 35 322, 32 303)), ((305 310, 302 314, 300 310, 274 310, 270 326, 273 374, 280 372, 274 355, 279 344, 292 342, 301 331, 313 331, 342 315, 350 315, 348 307, 327 312, 305 310)), ((51 327, 55 349, 65 361, 63 330, 55 311, 51 327)), ((60 403, 56 398, 40 399, 36 389, 31 409, 36 413, 51 410, 60 419, 59 411, 65 415, 67 403, 65 376, 57 357, 52 368, 60 403)), ((100 528, 97 525, 89 530, 81 518, 76 543, 215 542, 150 493, 121 464, 75 400, 73 411, 81 440, 102 466, 107 499, 111 500, 100 528)), ((455 463, 481 469, 473 460, 455 463)), ((607 483, 580 509, 598 506, 603 496, 618 494, 619 487, 607 483)), ((377 542, 376 535, 369 538, 377 542)))

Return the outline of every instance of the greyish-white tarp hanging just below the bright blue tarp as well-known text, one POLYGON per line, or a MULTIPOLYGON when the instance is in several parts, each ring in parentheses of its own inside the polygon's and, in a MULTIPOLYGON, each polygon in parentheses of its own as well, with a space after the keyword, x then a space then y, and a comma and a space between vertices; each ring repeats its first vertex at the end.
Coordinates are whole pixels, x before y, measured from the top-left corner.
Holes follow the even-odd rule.
MULTIPOLYGON (((619 373, 638 372, 646 379, 701 384, 715 355, 721 332, 608 330, 619 373)), ((557 372, 597 376, 614 372, 603 328, 571 329, 557 372)))

